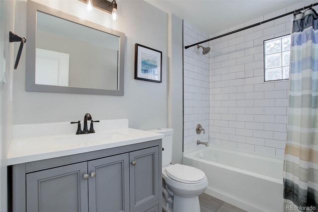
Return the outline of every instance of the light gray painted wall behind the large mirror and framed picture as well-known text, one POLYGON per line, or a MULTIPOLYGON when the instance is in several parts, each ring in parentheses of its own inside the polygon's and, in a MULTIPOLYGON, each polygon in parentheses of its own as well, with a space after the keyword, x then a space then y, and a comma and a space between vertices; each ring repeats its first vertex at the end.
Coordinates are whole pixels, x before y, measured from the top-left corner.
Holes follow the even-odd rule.
MULTIPOLYGON (((118 2, 119 19, 110 20, 106 12, 78 0, 42 1, 39 3, 77 15, 126 35, 125 94, 123 97, 25 92, 25 50, 13 82, 13 123, 46 123, 83 119, 86 112, 94 119, 128 118, 137 129, 168 125, 168 14, 142 0, 118 2), (162 83, 134 79, 135 43, 162 51, 162 83)), ((25 34, 26 2, 18 1, 20 34, 25 34)), ((76 126, 75 126, 76 128, 76 126)), ((76 130, 76 129, 75 129, 76 130)))

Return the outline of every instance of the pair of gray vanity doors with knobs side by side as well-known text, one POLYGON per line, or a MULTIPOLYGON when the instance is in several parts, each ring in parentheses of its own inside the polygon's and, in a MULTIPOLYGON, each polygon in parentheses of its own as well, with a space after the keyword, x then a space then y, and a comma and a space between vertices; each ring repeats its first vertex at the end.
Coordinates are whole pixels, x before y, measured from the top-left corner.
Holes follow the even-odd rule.
POLYGON ((27 174, 26 206, 27 212, 128 212, 128 153, 27 174))

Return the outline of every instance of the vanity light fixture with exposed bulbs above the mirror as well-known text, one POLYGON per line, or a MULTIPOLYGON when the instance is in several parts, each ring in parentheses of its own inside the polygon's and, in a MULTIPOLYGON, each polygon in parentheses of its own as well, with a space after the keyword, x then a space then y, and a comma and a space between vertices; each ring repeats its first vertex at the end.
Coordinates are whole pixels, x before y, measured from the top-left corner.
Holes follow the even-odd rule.
POLYGON ((116 0, 108 1, 108 0, 80 0, 87 3, 87 10, 91 10, 92 7, 96 7, 105 12, 111 13, 111 19, 117 20, 117 3, 116 0))

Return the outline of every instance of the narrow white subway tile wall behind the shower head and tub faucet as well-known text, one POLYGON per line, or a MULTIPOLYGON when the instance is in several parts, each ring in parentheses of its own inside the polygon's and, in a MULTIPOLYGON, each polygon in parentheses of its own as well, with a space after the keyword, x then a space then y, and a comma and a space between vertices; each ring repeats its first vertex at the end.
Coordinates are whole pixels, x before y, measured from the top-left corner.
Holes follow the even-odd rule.
MULTIPOLYGON (((209 35, 202 33, 196 27, 183 22, 183 44, 184 46, 197 43, 209 38, 209 35)), ((204 47, 208 47, 209 43, 202 43, 204 47)), ((218 43, 222 46, 221 43, 218 43)), ((220 47, 220 48, 221 48, 220 47)), ((220 50, 219 48, 219 50, 220 50)), ((213 48, 211 48, 211 51, 213 48)), ((224 52, 232 51, 224 49, 224 52)), ((219 53, 221 54, 221 50, 219 53)), ((216 55, 217 56, 217 55, 216 55)), ((228 57, 226 53, 226 57, 228 57)), ((216 60, 228 60, 228 58, 217 58, 216 60)), ((203 55, 202 48, 196 46, 183 50, 183 151, 188 151, 197 148, 197 140, 209 142, 209 115, 210 115, 210 82, 221 81, 231 76, 218 76, 218 78, 210 79, 209 76, 209 54, 203 55), (205 129, 205 134, 197 134, 195 131, 196 125, 201 124, 205 129)), ((235 73, 232 78, 236 79, 235 73)), ((231 89, 227 88, 229 92, 231 89)), ((221 89, 220 89, 221 94, 221 89)), ((225 104, 225 103, 224 103, 225 104)), ((201 145, 203 146, 203 145, 201 145)), ((200 146, 200 147, 201 147, 200 146)))

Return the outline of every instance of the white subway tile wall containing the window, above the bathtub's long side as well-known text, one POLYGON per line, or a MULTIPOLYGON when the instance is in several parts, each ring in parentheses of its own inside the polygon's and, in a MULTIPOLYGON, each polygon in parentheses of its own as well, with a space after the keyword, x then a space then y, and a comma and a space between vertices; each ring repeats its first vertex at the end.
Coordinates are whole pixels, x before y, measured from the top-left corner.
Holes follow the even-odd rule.
MULTIPOLYGON (((285 12, 281 9, 245 26, 285 12)), ((284 156, 289 81, 264 82, 263 41, 290 33, 290 20, 282 17, 210 41, 212 145, 284 156)))

